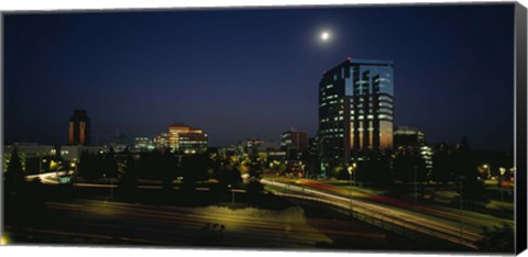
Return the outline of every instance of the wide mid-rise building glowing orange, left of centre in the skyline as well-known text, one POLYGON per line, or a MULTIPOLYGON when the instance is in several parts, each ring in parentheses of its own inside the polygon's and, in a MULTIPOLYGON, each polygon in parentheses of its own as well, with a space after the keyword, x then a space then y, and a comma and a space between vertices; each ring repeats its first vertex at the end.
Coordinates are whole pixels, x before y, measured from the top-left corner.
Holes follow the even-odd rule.
POLYGON ((183 124, 168 126, 168 146, 173 152, 185 154, 205 153, 208 136, 201 128, 194 128, 183 124))

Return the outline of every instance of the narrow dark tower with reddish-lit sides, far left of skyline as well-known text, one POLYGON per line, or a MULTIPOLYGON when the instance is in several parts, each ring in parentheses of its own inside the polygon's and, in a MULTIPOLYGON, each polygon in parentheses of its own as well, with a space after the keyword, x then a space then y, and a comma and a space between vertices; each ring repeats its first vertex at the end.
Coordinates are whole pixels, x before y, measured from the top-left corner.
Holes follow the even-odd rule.
POLYGON ((70 145, 90 144, 90 119, 86 110, 74 110, 74 115, 69 119, 68 143, 70 145))

